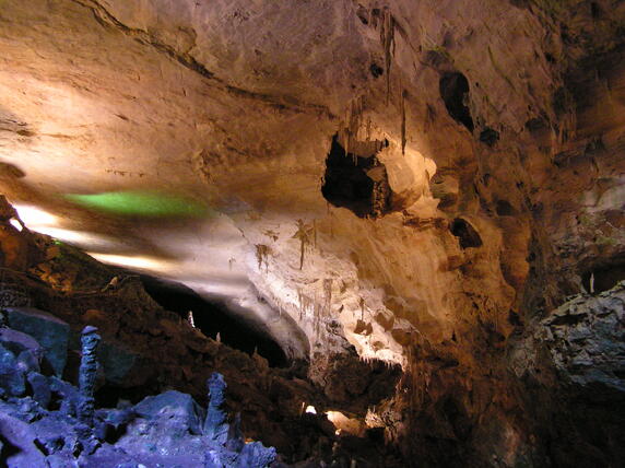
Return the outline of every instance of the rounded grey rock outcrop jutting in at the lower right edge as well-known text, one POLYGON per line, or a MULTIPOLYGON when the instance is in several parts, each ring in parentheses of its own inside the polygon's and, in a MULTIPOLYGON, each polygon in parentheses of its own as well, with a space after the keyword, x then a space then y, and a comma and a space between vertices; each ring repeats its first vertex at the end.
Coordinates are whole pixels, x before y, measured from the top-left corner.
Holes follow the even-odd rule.
POLYGON ((623 457, 624 292, 618 283, 569 297, 511 348, 526 408, 557 466, 613 466, 623 457))

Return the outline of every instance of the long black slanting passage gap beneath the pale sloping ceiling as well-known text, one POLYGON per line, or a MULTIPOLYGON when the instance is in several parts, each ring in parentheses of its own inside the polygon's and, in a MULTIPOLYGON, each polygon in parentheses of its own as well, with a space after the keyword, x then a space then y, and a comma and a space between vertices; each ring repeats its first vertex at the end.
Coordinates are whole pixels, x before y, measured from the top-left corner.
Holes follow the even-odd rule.
POLYGON ((207 337, 215 339, 219 332, 224 344, 250 355, 256 349, 272 367, 290 364, 286 354, 272 337, 234 317, 224 305, 207 301, 184 284, 149 276, 141 276, 141 281, 148 294, 167 311, 177 313, 185 320, 189 311, 192 311, 194 326, 207 337))

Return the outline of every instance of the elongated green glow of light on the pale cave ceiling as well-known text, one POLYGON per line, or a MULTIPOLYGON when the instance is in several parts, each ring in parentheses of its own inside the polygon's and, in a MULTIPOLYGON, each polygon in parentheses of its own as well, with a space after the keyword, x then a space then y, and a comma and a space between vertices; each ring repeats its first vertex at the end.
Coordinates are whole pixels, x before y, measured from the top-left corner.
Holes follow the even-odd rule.
POLYGON ((208 208, 187 198, 155 191, 108 191, 94 195, 68 194, 64 196, 82 207, 127 217, 189 217, 201 218, 208 208))

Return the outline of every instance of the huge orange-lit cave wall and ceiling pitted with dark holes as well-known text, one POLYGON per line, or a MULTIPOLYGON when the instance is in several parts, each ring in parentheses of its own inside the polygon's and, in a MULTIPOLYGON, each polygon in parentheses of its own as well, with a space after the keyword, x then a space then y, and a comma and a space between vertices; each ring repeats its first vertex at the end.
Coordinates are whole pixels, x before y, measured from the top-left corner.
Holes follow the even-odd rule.
POLYGON ((432 448, 413 430, 435 457, 557 459, 567 421, 536 429, 506 350, 622 279, 622 2, 0 5, 0 182, 26 224, 222 300, 318 382, 350 346, 401 363, 369 419, 406 453, 432 448), (75 202, 98 194, 186 201, 75 202))

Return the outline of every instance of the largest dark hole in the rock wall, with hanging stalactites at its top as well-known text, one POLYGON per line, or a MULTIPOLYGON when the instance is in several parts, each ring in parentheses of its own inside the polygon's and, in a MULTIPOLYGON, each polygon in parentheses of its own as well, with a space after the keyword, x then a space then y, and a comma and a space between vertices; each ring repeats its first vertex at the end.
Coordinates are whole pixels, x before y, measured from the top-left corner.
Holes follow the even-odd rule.
POLYGON ((338 136, 334 136, 326 160, 325 182, 321 187, 323 198, 334 207, 347 208, 358 218, 377 218, 388 212, 390 187, 387 172, 376 157, 376 152, 384 144, 388 142, 359 143, 358 147, 370 147, 364 152, 372 155, 362 156, 345 152, 338 136))

